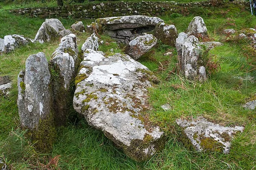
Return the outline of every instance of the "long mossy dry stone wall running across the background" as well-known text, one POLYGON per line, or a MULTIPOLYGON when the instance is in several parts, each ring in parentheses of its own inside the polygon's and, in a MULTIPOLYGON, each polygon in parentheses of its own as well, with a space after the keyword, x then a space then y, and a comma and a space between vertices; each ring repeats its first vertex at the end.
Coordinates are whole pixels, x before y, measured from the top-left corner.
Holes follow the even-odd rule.
MULTIPOLYGON (((90 3, 86 5, 74 5, 63 7, 44 7, 44 8, 22 8, 11 10, 10 12, 31 17, 39 18, 104 18, 112 16, 127 15, 149 15, 157 16, 163 14, 189 14, 191 12, 200 12, 193 10, 198 7, 229 7, 230 5, 238 5, 240 8, 248 6, 248 1, 223 2, 222 0, 209 0, 202 2, 177 3, 170 2, 101 2, 90 3)), ((207 12, 203 10, 203 12, 207 12)))

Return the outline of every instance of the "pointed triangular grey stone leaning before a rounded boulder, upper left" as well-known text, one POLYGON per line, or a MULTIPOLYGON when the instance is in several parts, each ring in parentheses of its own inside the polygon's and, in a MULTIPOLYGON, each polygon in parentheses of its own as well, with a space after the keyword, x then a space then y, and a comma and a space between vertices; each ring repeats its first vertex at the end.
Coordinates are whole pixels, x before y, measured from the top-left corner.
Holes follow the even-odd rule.
POLYGON ((58 38, 57 31, 48 23, 43 22, 38 32, 36 33, 36 37, 34 42, 44 43, 49 42, 58 38))

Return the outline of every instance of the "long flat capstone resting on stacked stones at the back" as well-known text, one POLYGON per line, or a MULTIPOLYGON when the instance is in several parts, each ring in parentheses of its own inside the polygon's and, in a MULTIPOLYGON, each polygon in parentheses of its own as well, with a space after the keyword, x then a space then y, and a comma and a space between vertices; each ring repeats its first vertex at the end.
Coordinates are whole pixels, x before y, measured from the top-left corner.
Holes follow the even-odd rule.
POLYGON ((155 26, 164 20, 157 17, 148 16, 122 16, 122 17, 109 17, 98 18, 95 22, 105 26, 107 29, 126 29, 126 28, 138 28, 146 26, 155 26))

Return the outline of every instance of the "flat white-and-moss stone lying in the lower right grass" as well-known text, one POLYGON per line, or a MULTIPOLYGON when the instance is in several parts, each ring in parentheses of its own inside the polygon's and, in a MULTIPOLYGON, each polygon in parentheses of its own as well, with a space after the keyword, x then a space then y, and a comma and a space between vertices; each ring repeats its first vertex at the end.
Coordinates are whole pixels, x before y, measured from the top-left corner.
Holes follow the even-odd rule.
POLYGON ((244 130, 241 126, 224 127, 203 117, 193 121, 177 119, 176 122, 183 128, 188 142, 198 151, 209 150, 228 154, 232 138, 236 133, 244 130))

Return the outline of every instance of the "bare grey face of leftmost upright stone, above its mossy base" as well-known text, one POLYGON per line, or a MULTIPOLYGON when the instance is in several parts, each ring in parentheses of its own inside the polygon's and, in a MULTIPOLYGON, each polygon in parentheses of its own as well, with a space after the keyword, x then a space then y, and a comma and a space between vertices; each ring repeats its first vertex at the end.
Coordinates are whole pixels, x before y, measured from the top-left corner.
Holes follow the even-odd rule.
POLYGON ((22 127, 37 128, 50 115, 50 72, 44 53, 30 55, 18 75, 18 111, 22 127))

